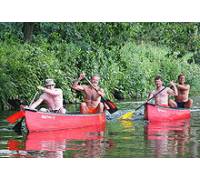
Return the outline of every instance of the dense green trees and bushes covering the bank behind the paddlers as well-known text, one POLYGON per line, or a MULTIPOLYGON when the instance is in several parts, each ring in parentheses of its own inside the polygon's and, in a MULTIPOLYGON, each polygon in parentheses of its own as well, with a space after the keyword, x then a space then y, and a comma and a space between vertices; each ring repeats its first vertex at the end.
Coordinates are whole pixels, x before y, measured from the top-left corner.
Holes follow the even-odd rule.
POLYGON ((198 95, 200 23, 0 23, 0 64, 0 109, 30 102, 46 78, 79 102, 71 84, 82 71, 100 74, 113 100, 146 98, 155 75, 167 85, 181 72, 198 95))

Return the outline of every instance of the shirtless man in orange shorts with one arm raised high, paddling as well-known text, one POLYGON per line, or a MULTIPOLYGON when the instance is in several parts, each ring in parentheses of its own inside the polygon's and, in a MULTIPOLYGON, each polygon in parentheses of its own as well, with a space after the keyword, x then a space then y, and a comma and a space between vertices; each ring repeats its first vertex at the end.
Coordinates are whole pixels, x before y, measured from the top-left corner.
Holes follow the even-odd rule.
POLYGON ((91 79, 91 85, 79 85, 79 81, 85 78, 85 74, 81 73, 78 80, 76 80, 72 88, 81 91, 84 95, 84 102, 81 103, 80 112, 83 114, 93 114, 104 111, 104 105, 101 102, 101 97, 104 96, 104 90, 99 87, 100 77, 94 75, 91 79), (95 89, 98 90, 98 92, 95 89))

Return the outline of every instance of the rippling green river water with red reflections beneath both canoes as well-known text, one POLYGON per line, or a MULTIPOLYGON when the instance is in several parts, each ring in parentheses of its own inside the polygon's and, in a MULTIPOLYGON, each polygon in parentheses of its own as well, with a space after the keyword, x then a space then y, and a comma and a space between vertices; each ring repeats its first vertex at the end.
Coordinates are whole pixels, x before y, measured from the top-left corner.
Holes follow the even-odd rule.
MULTIPOLYGON (((18 135, 4 120, 13 112, 2 112, 0 157, 200 157, 200 98, 194 100, 190 121, 155 127, 142 118, 112 118, 101 133, 83 129, 18 135)), ((123 102, 119 107, 134 109, 139 103, 123 102)))

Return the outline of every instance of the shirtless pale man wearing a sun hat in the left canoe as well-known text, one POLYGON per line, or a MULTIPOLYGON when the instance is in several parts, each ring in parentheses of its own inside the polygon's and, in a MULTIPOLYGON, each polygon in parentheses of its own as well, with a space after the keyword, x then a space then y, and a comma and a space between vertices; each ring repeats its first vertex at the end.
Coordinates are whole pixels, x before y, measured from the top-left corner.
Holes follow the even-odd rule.
POLYGON ((47 103, 48 109, 41 108, 44 112, 55 112, 55 113, 66 113, 66 109, 63 107, 63 92, 59 88, 55 88, 55 83, 53 79, 46 79, 45 87, 38 86, 39 90, 43 91, 43 94, 30 105, 30 109, 35 109, 43 101, 47 103))

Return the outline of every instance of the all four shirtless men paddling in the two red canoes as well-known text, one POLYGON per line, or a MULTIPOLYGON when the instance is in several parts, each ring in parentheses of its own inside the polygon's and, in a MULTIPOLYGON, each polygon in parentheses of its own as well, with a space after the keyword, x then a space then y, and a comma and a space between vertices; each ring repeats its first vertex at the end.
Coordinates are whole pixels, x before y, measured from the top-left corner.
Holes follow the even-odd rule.
MULTIPOLYGON (((101 97, 104 97, 104 90, 99 87, 100 76, 94 75, 91 78, 89 85, 82 85, 80 81, 85 77, 84 73, 81 73, 79 78, 72 84, 72 89, 80 91, 84 95, 84 102, 80 104, 80 112, 87 113, 99 113, 103 112, 109 107, 101 102, 101 97)), ((181 73, 178 76, 178 83, 170 82, 170 87, 164 87, 161 76, 155 77, 156 89, 149 93, 147 102, 149 99, 154 98, 155 104, 172 108, 191 108, 192 99, 189 99, 190 85, 185 83, 185 75, 181 73), (170 99, 169 96, 174 96, 175 99, 170 99)), ((46 102, 48 108, 41 108, 43 112, 54 113, 66 113, 66 109, 63 107, 63 91, 60 88, 55 88, 53 79, 46 79, 45 86, 38 86, 38 89, 43 91, 39 99, 29 106, 30 109, 37 108, 42 102, 46 102)))

